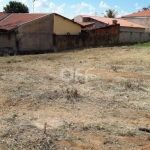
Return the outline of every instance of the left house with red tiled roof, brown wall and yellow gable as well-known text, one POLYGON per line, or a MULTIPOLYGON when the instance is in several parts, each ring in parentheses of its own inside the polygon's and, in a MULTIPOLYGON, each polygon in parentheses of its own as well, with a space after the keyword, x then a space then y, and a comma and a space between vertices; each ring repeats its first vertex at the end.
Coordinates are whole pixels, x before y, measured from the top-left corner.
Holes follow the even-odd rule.
POLYGON ((81 25, 56 13, 0 13, 0 54, 54 50, 54 35, 79 35, 81 25))

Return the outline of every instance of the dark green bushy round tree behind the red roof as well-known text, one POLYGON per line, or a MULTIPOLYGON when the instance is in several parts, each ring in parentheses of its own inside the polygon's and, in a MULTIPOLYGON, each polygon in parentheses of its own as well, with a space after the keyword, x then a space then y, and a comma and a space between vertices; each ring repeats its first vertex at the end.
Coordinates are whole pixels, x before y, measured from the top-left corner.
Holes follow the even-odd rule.
POLYGON ((21 2, 10 1, 8 5, 3 8, 6 13, 29 13, 29 9, 21 2))

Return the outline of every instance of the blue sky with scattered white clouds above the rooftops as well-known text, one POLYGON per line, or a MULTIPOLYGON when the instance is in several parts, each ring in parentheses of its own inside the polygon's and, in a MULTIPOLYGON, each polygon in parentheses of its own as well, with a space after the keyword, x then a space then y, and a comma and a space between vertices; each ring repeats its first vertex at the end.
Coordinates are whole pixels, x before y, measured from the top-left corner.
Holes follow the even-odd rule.
MULTIPOLYGON (((30 13, 33 13, 33 0, 16 0, 26 4, 30 13)), ((0 0, 0 11, 9 0, 0 0)), ((150 5, 150 0, 35 0, 34 13, 56 12, 68 18, 73 18, 79 14, 103 16, 107 9, 114 9, 118 12, 118 17, 137 12, 142 7, 150 5)))

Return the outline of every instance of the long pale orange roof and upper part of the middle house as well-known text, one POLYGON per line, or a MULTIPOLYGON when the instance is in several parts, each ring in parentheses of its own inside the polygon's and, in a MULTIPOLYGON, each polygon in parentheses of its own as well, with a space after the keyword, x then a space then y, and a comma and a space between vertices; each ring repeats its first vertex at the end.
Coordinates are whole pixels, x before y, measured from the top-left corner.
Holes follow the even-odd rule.
POLYGON ((126 21, 124 19, 114 19, 114 18, 104 18, 99 16, 88 16, 88 15, 79 15, 74 17, 74 21, 78 23, 91 22, 93 28, 96 27, 106 27, 112 24, 120 24, 120 31, 130 31, 130 32, 144 32, 147 27, 133 22, 126 21))

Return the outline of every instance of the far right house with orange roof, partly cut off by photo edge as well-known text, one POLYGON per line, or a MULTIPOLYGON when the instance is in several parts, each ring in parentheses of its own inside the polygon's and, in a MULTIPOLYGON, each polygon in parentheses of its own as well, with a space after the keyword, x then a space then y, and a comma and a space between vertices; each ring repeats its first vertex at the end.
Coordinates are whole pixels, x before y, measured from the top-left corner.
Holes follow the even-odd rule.
POLYGON ((121 17, 124 20, 147 26, 146 31, 150 31, 150 10, 140 11, 121 17))

